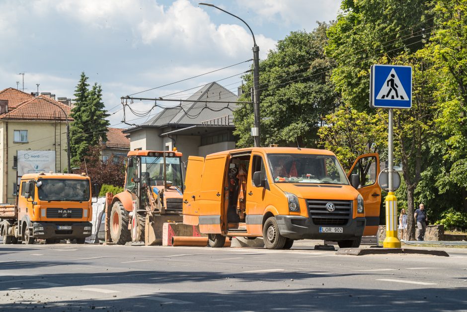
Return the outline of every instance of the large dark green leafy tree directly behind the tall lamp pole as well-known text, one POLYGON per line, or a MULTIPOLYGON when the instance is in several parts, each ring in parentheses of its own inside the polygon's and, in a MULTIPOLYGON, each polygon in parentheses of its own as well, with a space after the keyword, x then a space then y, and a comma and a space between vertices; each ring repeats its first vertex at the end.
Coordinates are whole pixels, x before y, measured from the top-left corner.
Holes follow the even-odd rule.
MULTIPOLYGON (((291 32, 279 40, 276 50, 260 62, 261 142, 303 147, 316 146, 323 116, 339 102, 329 73, 334 64, 324 55, 328 25, 320 23, 311 33, 291 32)), ((245 75, 242 101, 249 101, 252 74, 245 75)), ((234 111, 238 147, 251 146, 253 107, 243 104, 234 111)))

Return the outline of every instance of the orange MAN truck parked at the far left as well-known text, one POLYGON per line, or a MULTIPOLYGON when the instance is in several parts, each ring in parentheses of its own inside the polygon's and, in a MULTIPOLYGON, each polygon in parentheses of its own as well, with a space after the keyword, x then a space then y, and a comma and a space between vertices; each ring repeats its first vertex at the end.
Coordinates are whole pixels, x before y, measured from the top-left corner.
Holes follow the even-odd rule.
MULTIPOLYGON (((16 204, 0 204, 3 244, 82 244, 92 232, 91 181, 85 174, 30 173, 21 177, 16 204)), ((96 188, 97 190, 97 188, 96 188)), ((95 191, 96 191, 95 190, 95 191)))

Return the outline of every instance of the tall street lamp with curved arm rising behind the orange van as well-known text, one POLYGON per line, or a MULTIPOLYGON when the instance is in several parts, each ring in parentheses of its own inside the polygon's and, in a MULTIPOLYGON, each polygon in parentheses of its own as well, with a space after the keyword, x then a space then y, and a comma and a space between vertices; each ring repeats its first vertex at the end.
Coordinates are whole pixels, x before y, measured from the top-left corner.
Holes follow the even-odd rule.
POLYGON ((253 111, 254 111, 254 128, 251 128, 251 135, 254 137, 254 146, 260 146, 260 141, 259 141, 259 47, 256 44, 256 40, 254 39, 254 34, 253 31, 251 30, 250 26, 241 19, 240 17, 233 15, 232 13, 210 3, 198 3, 200 5, 207 5, 207 6, 212 6, 215 7, 223 12, 226 12, 229 15, 232 15, 233 17, 238 18, 241 20, 246 27, 251 32, 251 35, 253 36, 253 111))

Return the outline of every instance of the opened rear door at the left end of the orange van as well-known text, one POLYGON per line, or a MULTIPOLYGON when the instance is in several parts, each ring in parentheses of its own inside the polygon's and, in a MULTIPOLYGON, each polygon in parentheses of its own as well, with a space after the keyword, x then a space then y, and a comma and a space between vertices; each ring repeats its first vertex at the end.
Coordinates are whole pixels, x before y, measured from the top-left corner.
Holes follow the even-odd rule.
POLYGON ((203 174, 204 157, 189 156, 183 192, 183 223, 198 225, 199 192, 203 174))

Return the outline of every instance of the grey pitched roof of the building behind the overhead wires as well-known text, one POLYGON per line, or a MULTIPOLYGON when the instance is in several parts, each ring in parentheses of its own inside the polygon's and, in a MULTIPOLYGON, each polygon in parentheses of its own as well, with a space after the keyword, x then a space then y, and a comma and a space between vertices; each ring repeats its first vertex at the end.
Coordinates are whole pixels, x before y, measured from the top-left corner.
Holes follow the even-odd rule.
POLYGON ((216 82, 205 85, 183 104, 162 109, 143 126, 165 126, 171 124, 202 124, 205 121, 227 117, 233 119, 233 110, 238 97, 216 82), (232 103, 203 103, 193 101, 232 101, 232 103))

